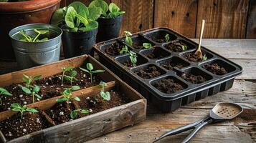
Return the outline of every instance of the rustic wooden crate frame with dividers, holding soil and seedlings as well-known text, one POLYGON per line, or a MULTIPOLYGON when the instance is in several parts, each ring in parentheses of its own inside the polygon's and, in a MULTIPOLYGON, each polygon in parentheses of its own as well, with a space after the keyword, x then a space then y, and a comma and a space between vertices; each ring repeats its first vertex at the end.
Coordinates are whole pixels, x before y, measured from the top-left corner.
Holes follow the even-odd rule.
MULTIPOLYGON (((7 86, 12 83, 22 82, 22 75, 27 74, 34 76, 35 74, 42 74, 42 78, 49 77, 53 74, 61 72, 62 66, 82 66, 90 62, 95 69, 105 69, 103 74, 99 76, 108 82, 106 90, 119 89, 125 96, 131 99, 132 102, 124 104, 118 107, 107 109, 103 112, 91 114, 87 117, 75 119, 71 122, 49 127, 47 129, 40 130, 27 134, 23 137, 6 141, 4 135, 0 131, 1 142, 85 142, 88 139, 99 137, 108 132, 113 132, 117 129, 127 127, 133 124, 138 124, 146 119, 146 99, 141 94, 138 94, 134 89, 121 81, 115 74, 112 73, 105 66, 93 59, 91 56, 77 56, 72 59, 66 59, 53 64, 47 64, 44 66, 37 66, 31 69, 25 69, 22 71, 15 71, 9 74, 0 76, 0 87, 7 86)), ((100 92, 99 86, 89 87, 87 89, 81 89, 73 92, 73 95, 77 97, 90 97, 100 92)), ((42 100, 34 104, 29 104, 27 107, 37 107, 40 110, 46 110, 51 108, 56 99, 60 97, 53 97, 51 99, 42 100)), ((0 113, 0 121, 11 117, 15 114, 11 110, 0 113)))

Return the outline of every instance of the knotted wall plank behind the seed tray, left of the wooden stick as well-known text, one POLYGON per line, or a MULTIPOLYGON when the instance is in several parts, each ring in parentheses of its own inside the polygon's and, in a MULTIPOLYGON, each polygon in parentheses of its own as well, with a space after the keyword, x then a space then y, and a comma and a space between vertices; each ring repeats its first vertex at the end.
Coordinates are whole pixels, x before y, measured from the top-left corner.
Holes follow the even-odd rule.
POLYGON ((194 37, 196 32, 197 0, 156 0, 154 27, 167 26, 180 34, 194 37))

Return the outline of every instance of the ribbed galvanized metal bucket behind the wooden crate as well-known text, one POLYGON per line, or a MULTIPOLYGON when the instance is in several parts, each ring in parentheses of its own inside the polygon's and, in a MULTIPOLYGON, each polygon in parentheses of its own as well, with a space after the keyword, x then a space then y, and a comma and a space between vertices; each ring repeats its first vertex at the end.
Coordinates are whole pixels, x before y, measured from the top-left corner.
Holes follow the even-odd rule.
POLYGON ((9 32, 11 44, 14 48, 16 61, 20 69, 49 64, 60 60, 60 46, 62 29, 49 24, 26 24, 18 26, 9 32), (34 29, 49 30, 47 41, 19 41, 22 35, 19 31, 34 34, 34 29))

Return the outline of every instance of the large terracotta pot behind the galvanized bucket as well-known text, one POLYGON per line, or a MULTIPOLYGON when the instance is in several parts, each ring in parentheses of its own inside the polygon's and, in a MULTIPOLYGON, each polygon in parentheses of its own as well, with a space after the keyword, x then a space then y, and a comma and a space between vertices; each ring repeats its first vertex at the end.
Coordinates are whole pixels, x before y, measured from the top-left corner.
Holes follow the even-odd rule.
POLYGON ((53 12, 59 9, 61 0, 30 0, 0 2, 0 59, 15 60, 9 31, 16 26, 32 23, 49 24, 53 12))

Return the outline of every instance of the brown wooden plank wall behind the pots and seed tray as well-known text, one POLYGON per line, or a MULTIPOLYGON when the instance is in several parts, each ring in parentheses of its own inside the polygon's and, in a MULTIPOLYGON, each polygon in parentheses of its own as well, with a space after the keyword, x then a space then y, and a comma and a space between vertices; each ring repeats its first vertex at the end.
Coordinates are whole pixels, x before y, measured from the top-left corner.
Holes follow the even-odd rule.
MULTIPOLYGON (((62 0, 67 6, 75 0, 62 0)), ((88 5, 92 0, 78 0, 88 5)), ((204 38, 256 38, 255 0, 107 0, 126 11, 121 33, 167 26, 198 38, 206 19, 204 38)))

